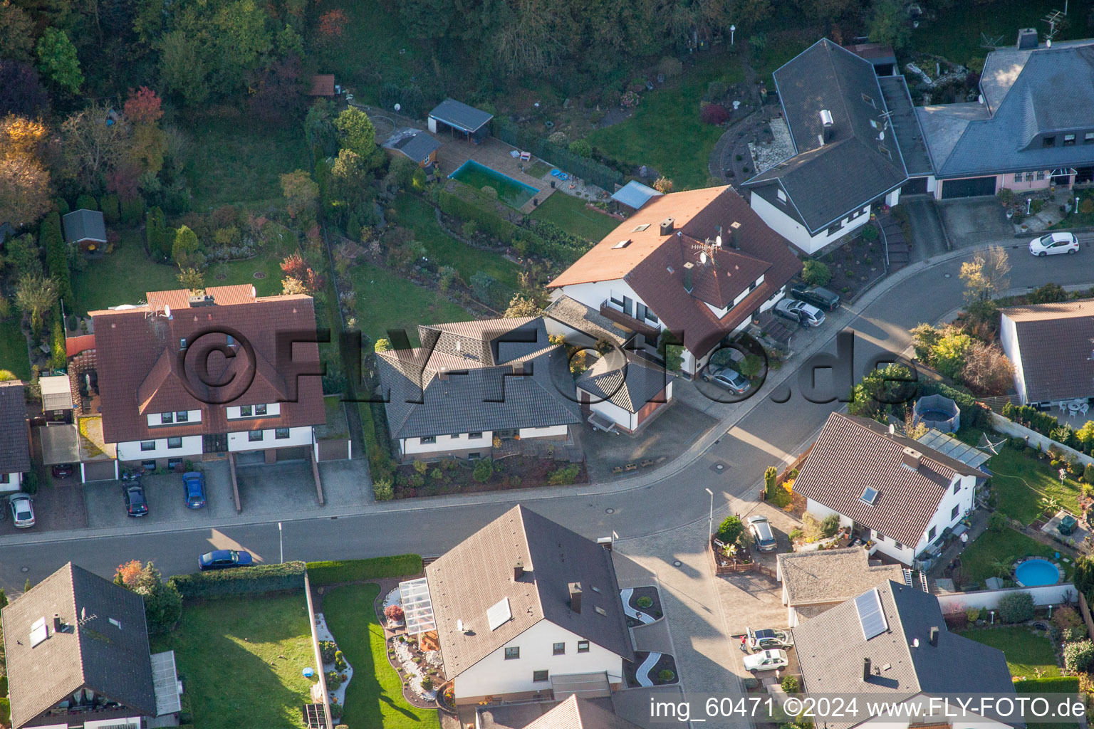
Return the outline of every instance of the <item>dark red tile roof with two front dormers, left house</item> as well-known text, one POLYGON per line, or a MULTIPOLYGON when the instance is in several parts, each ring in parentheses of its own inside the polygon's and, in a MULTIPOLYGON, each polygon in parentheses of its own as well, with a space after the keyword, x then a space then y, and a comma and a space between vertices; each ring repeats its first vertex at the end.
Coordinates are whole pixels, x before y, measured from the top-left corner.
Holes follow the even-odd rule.
MULTIPOLYGON (((103 434, 108 443, 325 422, 319 377, 298 378, 292 372, 278 371, 278 366, 290 368, 289 355, 278 355, 279 332, 315 331, 312 297, 257 297, 251 285, 212 286, 206 293, 213 304, 190 306, 186 290, 159 291, 147 294, 149 304, 91 311, 103 434), (206 357, 186 356, 181 362, 182 341, 186 340, 188 353, 201 354, 208 351, 210 337, 217 338, 214 344, 226 344, 225 330, 236 332, 235 356, 212 352, 207 358, 205 379, 213 385, 203 385, 196 360, 206 357), (253 348, 253 358, 243 342, 253 348), (184 377, 200 399, 185 387, 184 377), (234 385, 217 385, 229 378, 234 385), (241 384, 248 379, 249 384, 242 388, 241 384), (229 398, 231 401, 224 402, 229 398), (229 404, 274 402, 281 403, 280 416, 232 423, 226 420, 229 404), (201 422, 148 426, 148 414, 182 410, 200 410, 201 422)), ((314 372, 318 358, 315 344, 293 346, 293 368, 314 372)))

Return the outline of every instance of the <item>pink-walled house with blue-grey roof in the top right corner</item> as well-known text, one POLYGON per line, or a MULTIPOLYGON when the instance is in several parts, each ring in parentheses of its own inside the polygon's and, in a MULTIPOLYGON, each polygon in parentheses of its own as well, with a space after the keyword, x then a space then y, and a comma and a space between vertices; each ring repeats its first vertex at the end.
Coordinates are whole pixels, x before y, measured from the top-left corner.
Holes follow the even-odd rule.
POLYGON ((1038 43, 1022 28, 988 54, 976 102, 916 109, 938 199, 1094 180, 1094 39, 1038 43))

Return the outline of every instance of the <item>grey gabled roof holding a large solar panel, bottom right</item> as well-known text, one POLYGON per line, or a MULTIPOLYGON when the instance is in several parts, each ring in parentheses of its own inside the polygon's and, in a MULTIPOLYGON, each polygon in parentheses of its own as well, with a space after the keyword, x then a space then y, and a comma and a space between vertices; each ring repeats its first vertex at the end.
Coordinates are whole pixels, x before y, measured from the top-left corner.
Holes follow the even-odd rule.
MULTIPOLYGON (((939 600, 892 580, 876 588, 888 630, 865 639, 854 600, 793 628, 811 694, 1014 693, 1003 652, 946 630, 939 600), (938 645, 930 643, 939 628, 938 645), (918 640, 918 646, 912 644, 918 640), (863 681, 863 658, 872 667, 863 681)), ((858 724, 858 722, 852 722, 858 724)), ((829 727, 850 726, 828 722, 829 727)))

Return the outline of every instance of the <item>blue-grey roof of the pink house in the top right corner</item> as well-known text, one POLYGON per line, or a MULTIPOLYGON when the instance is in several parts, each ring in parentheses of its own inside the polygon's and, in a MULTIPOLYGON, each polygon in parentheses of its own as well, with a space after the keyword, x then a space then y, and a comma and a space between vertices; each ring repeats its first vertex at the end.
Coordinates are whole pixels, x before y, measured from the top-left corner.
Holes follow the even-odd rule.
POLYGON ((923 126, 940 177, 1094 164, 1094 146, 1083 144, 1083 133, 1092 128, 1094 42, 992 51, 980 90, 990 117, 969 120, 952 145, 956 119, 938 130, 923 126), (1076 144, 1063 146, 1064 132, 1075 133, 1076 144), (942 137, 939 142, 932 140, 935 133, 942 137), (1055 146, 1045 148, 1041 134, 1059 138, 1055 146))

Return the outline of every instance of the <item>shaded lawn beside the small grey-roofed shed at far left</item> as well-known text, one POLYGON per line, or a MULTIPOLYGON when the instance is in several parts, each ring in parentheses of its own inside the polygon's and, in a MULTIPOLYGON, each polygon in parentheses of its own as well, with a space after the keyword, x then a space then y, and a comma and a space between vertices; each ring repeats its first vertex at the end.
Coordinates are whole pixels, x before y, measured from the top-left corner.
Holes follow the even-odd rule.
POLYGON ((83 271, 72 271, 77 313, 137 304, 144 299, 146 292, 178 289, 177 273, 175 267, 148 257, 139 230, 124 230, 114 252, 88 261, 83 271))

